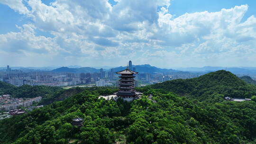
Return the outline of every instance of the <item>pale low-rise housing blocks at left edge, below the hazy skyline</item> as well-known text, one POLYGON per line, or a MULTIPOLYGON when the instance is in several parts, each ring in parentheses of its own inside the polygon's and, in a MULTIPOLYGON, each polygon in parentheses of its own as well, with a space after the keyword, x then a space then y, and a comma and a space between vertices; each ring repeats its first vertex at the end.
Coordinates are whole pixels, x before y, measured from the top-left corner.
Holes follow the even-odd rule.
POLYGON ((42 97, 36 97, 32 99, 23 98, 11 98, 9 95, 0 96, 0 111, 9 111, 12 109, 17 109, 19 107, 29 107, 33 105, 34 102, 39 102, 42 97))

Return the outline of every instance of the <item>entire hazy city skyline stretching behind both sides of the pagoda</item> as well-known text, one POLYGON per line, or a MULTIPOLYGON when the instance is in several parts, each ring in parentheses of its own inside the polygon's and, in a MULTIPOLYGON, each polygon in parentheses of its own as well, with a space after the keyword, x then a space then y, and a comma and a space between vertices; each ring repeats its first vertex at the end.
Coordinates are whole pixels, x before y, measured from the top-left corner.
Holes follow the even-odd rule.
MULTIPOLYGON (((136 72, 136 67, 129 61, 128 69, 136 72)), ((117 69, 103 70, 99 72, 22 72, 12 70, 7 66, 5 71, 0 72, 0 81, 10 83, 15 86, 27 85, 47 85, 47 86, 75 86, 75 85, 96 85, 96 86, 119 86, 117 69)), ((134 74, 135 86, 154 84, 174 79, 194 78, 198 75, 186 72, 140 72, 134 74)))

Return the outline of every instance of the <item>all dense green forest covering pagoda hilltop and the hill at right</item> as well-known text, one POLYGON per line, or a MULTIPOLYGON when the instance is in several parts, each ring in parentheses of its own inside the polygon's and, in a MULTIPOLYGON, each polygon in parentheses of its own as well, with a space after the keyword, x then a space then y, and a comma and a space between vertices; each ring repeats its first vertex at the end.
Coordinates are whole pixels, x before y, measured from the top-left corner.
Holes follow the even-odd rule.
POLYGON ((0 144, 256 144, 255 99, 223 100, 251 98, 256 86, 231 72, 137 90, 144 94, 132 102, 99 99, 111 88, 57 90, 64 100, 0 120, 0 144), (76 117, 83 126, 71 124, 76 117))

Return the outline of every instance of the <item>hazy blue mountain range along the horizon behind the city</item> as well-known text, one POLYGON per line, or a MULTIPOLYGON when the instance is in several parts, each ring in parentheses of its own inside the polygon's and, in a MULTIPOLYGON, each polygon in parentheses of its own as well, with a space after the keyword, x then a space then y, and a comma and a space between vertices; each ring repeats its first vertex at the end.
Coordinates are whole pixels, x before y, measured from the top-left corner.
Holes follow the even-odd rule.
MULTIPOLYGON (((204 67, 185 67, 185 68, 175 68, 174 69, 162 69, 157 68, 155 66, 151 66, 149 64, 143 65, 133 65, 136 68, 137 72, 140 73, 153 73, 153 72, 189 72, 196 75, 203 75, 209 72, 215 72, 219 70, 227 70, 238 76, 249 75, 255 77, 256 75, 256 67, 214 67, 214 66, 204 66, 204 67)), ((110 66, 101 66, 101 67, 81 67, 79 65, 70 65, 67 67, 10 67, 12 70, 21 70, 23 72, 38 72, 38 71, 52 71, 52 72, 100 72, 100 69, 103 68, 104 71, 109 72, 111 68, 110 66)), ((126 66, 114 67, 114 72, 119 72, 125 69, 126 66)), ((0 67, 0 71, 5 71, 6 67, 0 67)))

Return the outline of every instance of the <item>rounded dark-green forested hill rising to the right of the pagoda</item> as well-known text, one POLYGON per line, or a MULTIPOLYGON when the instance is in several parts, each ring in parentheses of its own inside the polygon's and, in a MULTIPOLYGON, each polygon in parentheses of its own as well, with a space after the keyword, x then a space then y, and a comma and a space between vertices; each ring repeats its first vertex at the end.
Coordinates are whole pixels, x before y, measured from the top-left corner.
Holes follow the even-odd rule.
POLYGON ((190 95, 198 99, 214 97, 251 98, 256 95, 256 86, 249 85, 231 72, 210 72, 193 79, 177 79, 151 85, 154 89, 190 95))

